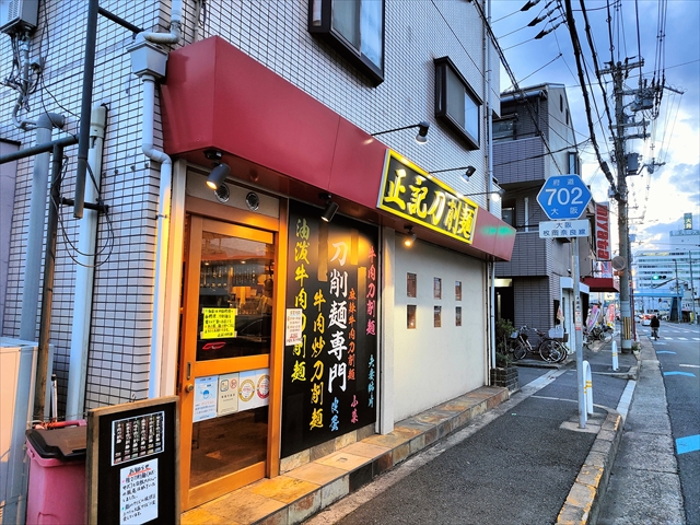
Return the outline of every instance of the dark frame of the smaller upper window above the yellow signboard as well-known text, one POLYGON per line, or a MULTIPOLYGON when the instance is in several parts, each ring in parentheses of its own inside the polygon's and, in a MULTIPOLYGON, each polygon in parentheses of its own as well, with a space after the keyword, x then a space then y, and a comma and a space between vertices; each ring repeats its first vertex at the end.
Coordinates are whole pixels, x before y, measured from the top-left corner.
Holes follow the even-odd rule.
POLYGON ((467 149, 479 150, 481 148, 481 106, 483 106, 483 101, 471 85, 469 85, 469 82, 467 82, 450 57, 435 58, 433 63, 435 67, 435 117, 457 132, 457 135, 464 139, 467 149), (450 113, 447 71, 452 71, 464 88, 465 96, 470 98, 477 107, 477 137, 471 135, 466 129, 466 126, 463 127, 453 114, 450 113))

